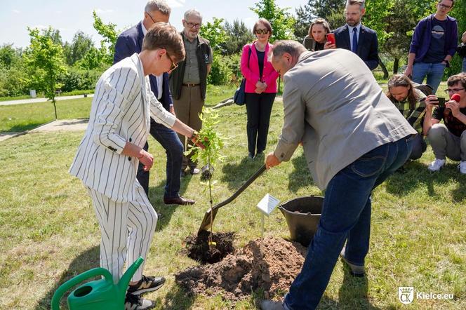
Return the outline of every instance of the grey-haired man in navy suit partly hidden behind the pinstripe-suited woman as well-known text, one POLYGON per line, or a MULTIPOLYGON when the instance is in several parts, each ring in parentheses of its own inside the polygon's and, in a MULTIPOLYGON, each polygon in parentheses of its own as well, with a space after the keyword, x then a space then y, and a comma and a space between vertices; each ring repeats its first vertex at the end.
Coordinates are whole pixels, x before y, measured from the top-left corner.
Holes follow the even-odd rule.
MULTIPOLYGON (((140 53, 142 48, 142 39, 144 39, 147 30, 155 22, 168 22, 171 8, 164 0, 150 0, 147 2, 144 11, 144 19, 138 22, 138 25, 127 29, 116 39, 114 63, 133 55, 140 53)), ((173 100, 169 89, 168 74, 161 76, 149 76, 150 88, 155 97, 161 102, 164 108, 175 115, 173 100)), ((183 145, 175 131, 170 128, 150 120, 150 134, 164 147, 167 155, 166 161, 166 184, 164 203, 178 205, 192 205, 195 201, 180 196, 180 176, 182 165, 183 145)), ((147 151, 149 144, 145 144, 144 149, 147 151)), ((138 168, 138 181, 140 182, 145 193, 149 193, 149 171, 145 171, 140 163, 138 168)))

